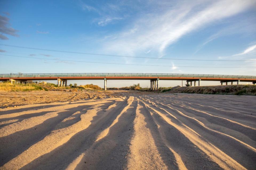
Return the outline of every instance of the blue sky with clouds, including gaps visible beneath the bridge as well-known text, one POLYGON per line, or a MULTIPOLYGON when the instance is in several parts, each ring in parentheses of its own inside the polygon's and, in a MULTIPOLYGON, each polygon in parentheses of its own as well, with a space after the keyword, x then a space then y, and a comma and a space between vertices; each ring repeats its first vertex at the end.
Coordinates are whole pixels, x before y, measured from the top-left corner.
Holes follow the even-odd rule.
POLYGON ((19 72, 256 75, 256 1, 1 0, 0 74, 19 72))

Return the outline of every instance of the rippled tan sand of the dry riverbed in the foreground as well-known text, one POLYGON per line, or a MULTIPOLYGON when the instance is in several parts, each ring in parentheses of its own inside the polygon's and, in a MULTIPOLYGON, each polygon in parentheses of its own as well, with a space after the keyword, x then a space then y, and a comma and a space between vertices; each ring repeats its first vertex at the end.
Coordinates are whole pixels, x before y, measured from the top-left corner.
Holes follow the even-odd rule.
POLYGON ((256 96, 0 92, 0 106, 0 169, 256 169, 256 96))

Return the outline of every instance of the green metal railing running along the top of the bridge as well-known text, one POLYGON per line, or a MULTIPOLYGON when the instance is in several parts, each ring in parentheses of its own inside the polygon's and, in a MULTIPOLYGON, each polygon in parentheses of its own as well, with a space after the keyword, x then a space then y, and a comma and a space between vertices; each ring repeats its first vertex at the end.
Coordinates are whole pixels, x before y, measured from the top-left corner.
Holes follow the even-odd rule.
POLYGON ((38 73, 38 74, 0 74, 2 78, 18 77, 200 77, 200 78, 246 78, 250 75, 215 75, 215 74, 169 74, 169 73, 38 73))

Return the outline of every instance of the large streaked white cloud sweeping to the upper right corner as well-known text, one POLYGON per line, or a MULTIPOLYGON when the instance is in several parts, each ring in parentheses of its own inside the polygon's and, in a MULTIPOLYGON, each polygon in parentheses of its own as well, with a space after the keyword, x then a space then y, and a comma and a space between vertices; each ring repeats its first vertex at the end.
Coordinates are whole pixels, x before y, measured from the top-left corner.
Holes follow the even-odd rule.
POLYGON ((115 39, 105 41, 107 51, 134 54, 154 49, 163 54, 165 49, 187 33, 196 31, 211 23, 243 12, 255 1, 179 1, 179 4, 142 15, 115 39), (161 12, 159 12, 161 11, 161 12), (131 30, 136 31, 131 31, 131 30))

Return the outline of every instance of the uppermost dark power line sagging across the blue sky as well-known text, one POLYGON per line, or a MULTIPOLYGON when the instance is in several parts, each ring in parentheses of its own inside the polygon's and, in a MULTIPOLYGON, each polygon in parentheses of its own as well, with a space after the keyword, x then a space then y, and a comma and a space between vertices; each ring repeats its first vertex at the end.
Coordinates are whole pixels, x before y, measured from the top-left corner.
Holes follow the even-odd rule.
POLYGON ((43 50, 43 51, 53 51, 53 52, 62 52, 62 53, 75 53, 75 54, 89 54, 89 55, 112 56, 112 57, 148 58, 148 59, 161 59, 161 60, 189 60, 189 61, 256 61, 256 60, 202 60, 202 59, 181 59, 181 58, 157 58, 157 57, 121 56, 121 55, 111 55, 111 54, 97 54, 97 53, 82 53, 82 52, 72 52, 72 51, 62 51, 62 50, 51 50, 51 49, 24 47, 24 46, 8 45, 8 44, 0 44, 0 45, 16 47, 16 48, 43 50))

